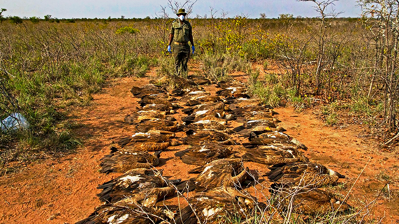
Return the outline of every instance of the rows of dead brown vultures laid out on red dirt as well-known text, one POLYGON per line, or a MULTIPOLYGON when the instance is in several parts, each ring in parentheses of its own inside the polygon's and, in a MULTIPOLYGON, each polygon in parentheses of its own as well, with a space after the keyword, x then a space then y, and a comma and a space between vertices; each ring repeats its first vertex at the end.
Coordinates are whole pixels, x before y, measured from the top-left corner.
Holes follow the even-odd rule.
POLYGON ((344 177, 325 166, 309 162, 301 150, 306 146, 282 133, 276 112, 271 107, 250 99, 247 88, 237 82, 220 82, 216 96, 201 87, 174 90, 154 85, 133 87, 140 98, 140 108, 126 116, 136 133, 117 141, 111 153, 101 161, 101 173, 123 173, 98 188, 101 201, 88 218, 78 224, 128 223, 215 223, 221 217, 245 218, 266 205, 257 202, 242 189, 257 183, 243 161, 271 166, 267 176, 273 182, 270 192, 277 198, 281 211, 290 200, 292 211, 314 215, 329 211, 345 211, 348 204, 331 193, 319 189, 336 184, 344 177), (178 103, 175 103, 178 102, 178 103), (188 106, 183 108, 181 105, 188 106), (182 109, 182 123, 173 114, 182 109), (243 124, 227 128, 231 120, 243 124), (178 140, 176 132, 185 132, 178 140), (230 138, 239 136, 237 142, 230 138), (168 179, 159 164, 162 151, 170 146, 186 144, 187 149, 175 153, 183 163, 198 165, 188 171, 198 173, 189 180, 168 179), (233 151, 240 145, 243 153, 233 151), (151 154, 149 151, 154 151, 151 154), (255 181, 255 182, 254 182, 255 181), (170 196, 195 191, 187 198, 188 206, 156 206, 170 196))

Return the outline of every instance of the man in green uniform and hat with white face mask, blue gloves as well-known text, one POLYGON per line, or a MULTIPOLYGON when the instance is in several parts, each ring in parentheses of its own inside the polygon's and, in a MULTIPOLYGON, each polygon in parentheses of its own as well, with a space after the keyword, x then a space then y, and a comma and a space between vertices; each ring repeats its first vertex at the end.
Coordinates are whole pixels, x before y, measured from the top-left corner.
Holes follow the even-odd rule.
POLYGON ((175 59, 176 73, 179 74, 180 67, 182 67, 181 71, 187 71, 187 62, 190 56, 190 46, 188 45, 188 41, 191 43, 193 54, 195 47, 191 24, 184 19, 184 17, 187 15, 186 11, 181 8, 176 15, 179 18, 172 23, 172 28, 170 29, 169 33, 168 51, 172 53, 170 46, 172 45, 173 41, 173 57, 175 59))

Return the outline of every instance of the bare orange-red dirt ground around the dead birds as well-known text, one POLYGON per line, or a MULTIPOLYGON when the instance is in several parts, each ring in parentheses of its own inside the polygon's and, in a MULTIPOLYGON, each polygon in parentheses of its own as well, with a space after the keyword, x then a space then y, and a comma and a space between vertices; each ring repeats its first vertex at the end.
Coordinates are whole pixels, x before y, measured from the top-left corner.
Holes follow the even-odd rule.
MULTIPOLYGON (((153 74, 154 71, 150 71, 148 75, 153 74)), ((233 77, 246 79, 241 73, 233 74, 233 77)), ((99 173, 99 160, 109 153, 113 140, 132 134, 132 126, 122 123, 124 116, 136 111, 138 106, 130 88, 148 81, 133 77, 118 79, 115 85, 95 94, 91 106, 71 114, 76 122, 83 124, 76 133, 86 140, 78 153, 38 161, 20 173, 1 177, 0 223, 75 223, 91 214, 101 204, 96 196, 100 190, 96 187, 119 175, 99 173)), ((214 91, 213 86, 206 89, 214 91)), ((398 169, 395 152, 384 152, 375 141, 356 137, 361 126, 340 130, 324 126, 311 111, 275 110, 279 112, 278 118, 286 133, 308 146, 308 157, 348 177, 341 181, 344 187, 334 189, 345 196, 353 185, 348 202, 358 208, 374 200, 385 185, 384 177, 388 179, 386 175, 389 177, 398 169)), ((171 147, 171 150, 182 148, 185 146, 171 147)), ((174 153, 162 153, 159 168, 164 169, 164 175, 173 178, 191 177, 186 171, 195 166, 182 163, 173 157, 174 153)), ((248 163, 248 166, 260 173, 267 171, 254 163, 248 163)), ((398 174, 399 171, 391 178, 390 197, 384 192, 375 204, 369 206, 372 207, 370 218, 379 220, 385 215, 383 223, 399 223, 398 174)), ((177 198, 168 201, 174 203, 177 198)))

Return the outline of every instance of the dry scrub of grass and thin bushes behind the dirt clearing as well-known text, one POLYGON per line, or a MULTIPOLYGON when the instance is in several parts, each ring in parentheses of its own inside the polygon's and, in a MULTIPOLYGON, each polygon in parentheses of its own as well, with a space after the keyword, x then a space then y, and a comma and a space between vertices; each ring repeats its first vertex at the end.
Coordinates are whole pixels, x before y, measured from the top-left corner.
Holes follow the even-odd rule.
MULTIPOLYGON (((188 18, 196 43, 192 61, 213 81, 234 71, 249 74, 252 94, 271 106, 304 110, 322 102, 328 125, 338 122, 339 110, 348 110, 395 132, 398 5, 359 3, 361 18, 334 18, 339 14, 320 7, 320 18, 274 19, 211 9, 209 16, 188 18), (270 67, 274 72, 267 72, 270 67), (344 105, 335 106, 340 100, 344 105)), ((74 151, 81 140, 73 135, 79 124, 69 121, 69 111, 89 105, 113 78, 143 77, 151 67, 159 76, 173 71, 166 51, 173 20, 166 16, 0 19, 0 81, 18 100, 10 105, 2 97, 0 118, 18 110, 31 124, 27 131, 2 132, 0 166, 74 151)))

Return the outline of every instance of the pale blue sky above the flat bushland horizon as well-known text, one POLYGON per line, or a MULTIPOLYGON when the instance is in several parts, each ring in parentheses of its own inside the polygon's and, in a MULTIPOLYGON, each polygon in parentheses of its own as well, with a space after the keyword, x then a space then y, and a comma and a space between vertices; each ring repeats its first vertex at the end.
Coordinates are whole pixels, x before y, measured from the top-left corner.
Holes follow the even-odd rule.
MULTIPOLYGON (((181 1, 180 1, 181 2, 181 1)), ((0 0, 0 8, 6 8, 4 16, 43 18, 50 14, 56 18, 145 18, 156 17, 162 6, 167 6, 167 0, 0 0)), ((198 0, 194 4, 191 17, 210 15, 212 7, 220 16, 224 10, 227 17, 245 15, 249 18, 259 18, 265 13, 267 18, 277 18, 279 14, 293 14, 294 17, 315 17, 313 2, 298 2, 296 0, 198 0)), ((339 0, 334 6, 336 11, 344 12, 340 17, 358 17, 360 8, 356 0, 339 0)), ((169 15, 174 17, 172 11, 169 15)))

